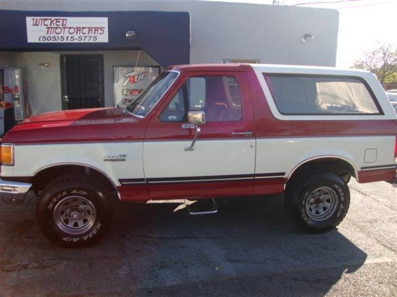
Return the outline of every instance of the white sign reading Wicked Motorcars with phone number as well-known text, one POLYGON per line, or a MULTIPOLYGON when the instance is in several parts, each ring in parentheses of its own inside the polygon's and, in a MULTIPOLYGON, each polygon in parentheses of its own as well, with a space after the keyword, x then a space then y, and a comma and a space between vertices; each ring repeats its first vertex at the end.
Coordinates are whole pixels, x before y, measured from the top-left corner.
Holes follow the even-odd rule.
POLYGON ((107 17, 27 16, 28 43, 108 42, 107 17))

